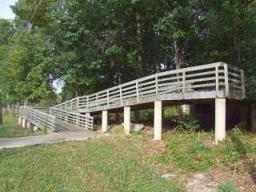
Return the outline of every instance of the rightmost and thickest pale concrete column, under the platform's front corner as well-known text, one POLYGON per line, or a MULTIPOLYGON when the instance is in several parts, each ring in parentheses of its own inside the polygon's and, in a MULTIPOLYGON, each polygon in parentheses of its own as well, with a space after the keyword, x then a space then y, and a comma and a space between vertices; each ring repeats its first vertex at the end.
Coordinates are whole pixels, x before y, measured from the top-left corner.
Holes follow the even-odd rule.
POLYGON ((226 98, 215 98, 215 143, 226 138, 226 98))

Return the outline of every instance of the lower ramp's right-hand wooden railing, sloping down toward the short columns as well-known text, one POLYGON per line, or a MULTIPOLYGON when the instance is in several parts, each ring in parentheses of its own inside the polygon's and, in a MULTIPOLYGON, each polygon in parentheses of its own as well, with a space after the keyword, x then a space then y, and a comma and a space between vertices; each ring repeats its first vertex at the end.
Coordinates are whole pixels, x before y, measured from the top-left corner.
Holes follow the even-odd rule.
POLYGON ((94 129, 94 117, 90 115, 82 115, 77 113, 72 113, 66 110, 60 110, 57 108, 50 108, 50 114, 54 115, 56 118, 70 122, 76 126, 80 126, 82 128, 94 129))

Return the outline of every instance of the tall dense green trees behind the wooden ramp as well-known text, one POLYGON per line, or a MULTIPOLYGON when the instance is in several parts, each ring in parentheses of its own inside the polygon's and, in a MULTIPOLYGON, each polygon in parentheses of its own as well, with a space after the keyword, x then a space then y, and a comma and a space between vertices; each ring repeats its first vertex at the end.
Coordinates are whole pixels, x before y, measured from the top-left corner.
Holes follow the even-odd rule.
POLYGON ((246 70, 254 98, 255 0, 45 0, 17 33, 33 4, 19 0, 14 21, 0 21, 3 101, 56 102, 56 80, 65 100, 218 61, 246 70))

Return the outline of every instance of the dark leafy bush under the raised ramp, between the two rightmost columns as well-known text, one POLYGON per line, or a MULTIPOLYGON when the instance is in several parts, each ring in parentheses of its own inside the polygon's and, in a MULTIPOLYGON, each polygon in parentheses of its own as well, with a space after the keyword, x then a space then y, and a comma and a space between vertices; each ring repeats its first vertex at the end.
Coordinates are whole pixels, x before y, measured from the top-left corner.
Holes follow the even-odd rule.
POLYGON ((198 130, 199 123, 197 120, 191 119, 188 115, 172 115, 171 120, 177 123, 177 126, 174 126, 174 130, 178 132, 194 132, 198 130))

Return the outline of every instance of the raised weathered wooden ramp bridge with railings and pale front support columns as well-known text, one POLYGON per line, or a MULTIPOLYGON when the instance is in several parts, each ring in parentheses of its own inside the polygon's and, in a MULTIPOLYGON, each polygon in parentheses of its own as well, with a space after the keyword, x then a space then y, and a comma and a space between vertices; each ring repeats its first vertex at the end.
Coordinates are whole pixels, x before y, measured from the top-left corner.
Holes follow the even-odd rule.
POLYGON ((124 129, 130 134, 130 109, 152 107, 154 140, 162 137, 162 106, 215 101, 215 138, 225 138, 226 101, 246 98, 244 71, 223 62, 170 70, 126 82, 50 108, 54 117, 86 129, 93 128, 93 114, 102 112, 102 131, 108 112, 124 111, 124 129), (150 105, 151 104, 151 105, 150 105))

